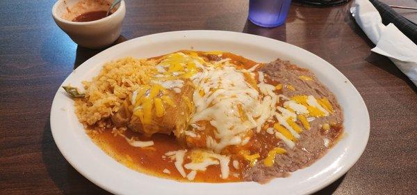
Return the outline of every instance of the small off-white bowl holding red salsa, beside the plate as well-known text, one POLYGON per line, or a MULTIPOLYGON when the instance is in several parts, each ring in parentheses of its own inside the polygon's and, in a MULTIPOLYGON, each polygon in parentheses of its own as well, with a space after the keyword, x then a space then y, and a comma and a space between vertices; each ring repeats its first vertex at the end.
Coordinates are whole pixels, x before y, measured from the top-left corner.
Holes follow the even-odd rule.
POLYGON ((79 0, 58 0, 52 7, 52 16, 56 24, 76 44, 90 49, 98 49, 111 45, 120 36, 122 23, 126 14, 124 1, 117 10, 107 17, 91 22, 71 22, 63 19, 67 8, 74 6, 79 0))

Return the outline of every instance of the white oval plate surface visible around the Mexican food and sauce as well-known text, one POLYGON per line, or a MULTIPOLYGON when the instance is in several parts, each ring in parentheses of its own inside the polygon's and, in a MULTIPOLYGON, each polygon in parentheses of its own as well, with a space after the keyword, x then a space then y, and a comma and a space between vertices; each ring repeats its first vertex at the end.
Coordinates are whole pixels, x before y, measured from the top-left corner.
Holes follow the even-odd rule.
POLYGON ((115 194, 309 194, 326 187, 359 159, 368 142, 370 123, 361 95, 336 68, 300 47, 261 36, 229 31, 174 31, 134 38, 104 50, 85 61, 62 86, 81 88, 107 61, 126 56, 148 58, 179 49, 223 50, 258 62, 277 58, 313 71, 338 98, 345 115, 346 135, 309 167, 276 178, 265 185, 256 182, 176 182, 133 171, 96 146, 74 114, 74 102, 59 88, 51 109, 51 130, 65 159, 85 178, 115 194))

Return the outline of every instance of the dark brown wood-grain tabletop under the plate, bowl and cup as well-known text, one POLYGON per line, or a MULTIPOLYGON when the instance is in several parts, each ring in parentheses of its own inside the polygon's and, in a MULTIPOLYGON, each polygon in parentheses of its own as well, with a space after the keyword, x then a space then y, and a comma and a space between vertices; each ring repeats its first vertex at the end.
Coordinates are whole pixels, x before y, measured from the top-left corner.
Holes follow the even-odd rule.
MULTIPOLYGON (((58 151, 49 114, 58 86, 100 51, 77 47, 51 17, 53 1, 0 2, 0 194, 104 194, 58 151)), ((401 1, 396 2, 401 5, 401 1)), ((352 20, 350 3, 291 6, 285 25, 247 22, 243 0, 126 0, 119 42, 164 31, 252 33, 302 47, 352 81, 370 114, 361 159, 320 194, 417 194, 417 89, 352 20)), ((417 14, 417 13, 415 13, 417 14)), ((301 56, 300 56, 301 57, 301 56)))

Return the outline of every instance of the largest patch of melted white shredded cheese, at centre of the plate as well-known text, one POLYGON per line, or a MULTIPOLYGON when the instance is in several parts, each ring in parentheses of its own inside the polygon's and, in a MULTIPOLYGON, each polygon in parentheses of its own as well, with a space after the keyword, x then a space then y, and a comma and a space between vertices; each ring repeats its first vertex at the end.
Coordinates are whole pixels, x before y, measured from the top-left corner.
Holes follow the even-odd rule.
POLYGON ((259 106, 259 93, 234 66, 203 67, 201 77, 193 82, 199 88, 193 93, 196 112, 190 122, 207 120, 216 129, 215 137, 207 142, 208 148, 218 153, 226 146, 240 144, 245 134, 258 125, 254 110, 259 106), (242 121, 239 107, 248 120, 242 121))

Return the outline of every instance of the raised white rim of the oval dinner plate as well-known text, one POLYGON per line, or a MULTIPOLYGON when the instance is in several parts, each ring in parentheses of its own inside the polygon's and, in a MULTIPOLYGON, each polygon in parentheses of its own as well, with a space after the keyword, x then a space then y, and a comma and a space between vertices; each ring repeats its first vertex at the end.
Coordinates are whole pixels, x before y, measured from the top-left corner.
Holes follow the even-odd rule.
MULTIPOLYGON (((344 100, 344 95, 348 96, 350 102, 347 102, 346 104, 348 104, 349 107, 343 107, 343 109, 345 109, 345 113, 352 113, 352 109, 354 109, 355 113, 355 115, 352 115, 352 118, 346 118, 345 114, 345 120, 354 120, 355 122, 359 122, 353 127, 355 127, 355 130, 361 130, 361 132, 352 132, 353 134, 347 134, 347 137, 344 137, 339 143, 342 143, 346 140, 350 140, 352 137, 357 136, 357 134, 359 134, 361 137, 355 137, 356 142, 354 146, 341 148, 342 153, 340 155, 336 155, 337 159, 335 159, 334 162, 330 164, 331 166, 328 169, 322 169, 318 172, 317 170, 316 172, 313 171, 314 173, 316 173, 316 175, 313 175, 309 178, 303 178, 303 176, 306 176, 304 173, 306 172, 305 170, 314 170, 315 167, 318 166, 318 162, 322 161, 322 159, 319 159, 318 162, 312 164, 311 166, 305 169, 295 171, 289 178, 277 178, 266 185, 259 185, 255 182, 238 182, 222 184, 175 182, 173 180, 156 178, 144 175, 142 173, 138 173, 136 171, 132 171, 126 168, 125 166, 115 162, 111 157, 108 157, 106 154, 104 154, 104 152, 102 152, 101 149, 95 146, 94 143, 92 143, 85 134, 83 136, 79 132, 77 134, 75 131, 71 131, 71 125, 76 125, 76 129, 82 128, 82 126, 80 124, 74 124, 74 108, 68 106, 68 104, 71 104, 72 101, 68 98, 67 100, 65 100, 65 93, 60 87, 54 97, 54 102, 52 103, 51 107, 51 132, 54 137, 54 141, 56 142, 56 145, 58 146, 60 153, 63 154, 65 159, 67 159, 67 161, 74 167, 74 169, 79 171, 79 173, 85 176, 85 178, 88 178, 88 180, 92 181, 99 187, 106 189, 108 192, 112 192, 113 194, 139 194, 140 192, 147 194, 160 194, 164 192, 170 192, 171 194, 211 194, 212 192, 218 192, 218 194, 253 194, 254 192, 261 194, 268 192, 281 192, 283 194, 311 194, 313 192, 318 191, 319 189, 322 189, 323 187, 326 187, 327 185, 331 184, 332 182, 343 176, 343 174, 345 174, 354 165, 354 163, 357 162, 359 157, 361 157, 361 154, 363 153, 363 150, 366 147, 366 143, 368 142, 370 132, 370 121, 368 109, 366 108, 366 104, 363 102, 363 99, 361 98, 359 92, 356 90, 356 88, 354 88, 352 83, 341 72, 339 72, 336 68, 327 63, 327 61, 300 47, 296 47, 294 45, 290 45, 286 42, 281 42, 279 40, 273 40, 261 36, 254 36, 246 33, 236 33, 231 31, 196 30, 156 33, 149 36, 142 36, 140 38, 134 38, 132 40, 122 42, 118 45, 104 50, 103 52, 100 52, 99 54, 93 56, 91 59, 88 59, 88 61, 85 61, 78 68, 76 68, 76 70, 74 70, 74 72, 72 72, 67 77, 67 79, 63 81, 63 84, 61 84, 61 86, 70 84, 70 81, 74 80, 75 77, 81 77, 85 74, 94 73, 94 71, 92 71, 91 69, 95 69, 97 72, 97 68, 95 68, 93 65, 97 63, 103 63, 104 59, 111 58, 112 56, 114 57, 115 55, 121 55, 121 51, 123 51, 124 48, 136 47, 136 45, 144 44, 156 45, 161 44, 161 42, 169 42, 171 40, 209 40, 213 42, 224 42, 224 44, 240 44, 241 42, 243 42, 242 44, 252 44, 252 47, 266 48, 263 51, 272 49, 272 52, 276 52, 275 49, 279 47, 279 49, 281 49, 280 52, 282 52, 280 53, 282 58, 286 60, 285 57, 289 56, 288 59, 293 61, 297 65, 303 66, 304 64, 308 66, 308 64, 303 60, 311 60, 311 63, 320 66, 320 72, 317 72, 317 70, 312 71, 316 73, 316 75, 321 81, 323 81, 323 79, 325 80, 323 81, 323 83, 325 83, 326 86, 328 86, 329 88, 333 88, 337 87, 334 86, 336 84, 343 85, 343 91, 341 91, 341 94, 343 94, 343 96, 339 97, 336 93, 335 95, 339 100, 344 100), (284 47, 284 50, 281 47, 284 47), (117 50, 119 50, 119 52, 117 52, 117 50), (297 52, 302 54, 303 59, 291 59, 291 55, 293 54, 290 54, 290 52, 297 52), (323 76, 322 74, 325 73, 322 72, 325 72, 327 76, 323 76), (328 77, 334 77, 337 79, 332 80, 330 82, 327 79, 328 77), (342 80, 344 84, 341 83, 342 80), (65 120, 65 118, 67 120, 65 120), (69 118, 72 120, 70 120, 69 118), (74 137, 76 139, 69 140, 67 139, 68 137, 74 137), (90 141, 90 143, 86 141, 90 141), (87 145, 88 150, 90 152, 93 151, 92 153, 87 153, 88 151, 80 150, 81 146, 87 145), (84 156, 81 156, 80 153, 84 156), (91 157, 91 159, 87 157, 91 157), (104 162, 97 161, 97 158, 99 158, 99 160, 104 160, 104 162), (112 160, 114 162, 111 162, 112 160), (338 161, 343 162, 339 163, 338 161), (96 164, 92 164, 92 162, 96 164), (320 171, 324 172, 320 173, 320 171), (137 178, 140 178, 142 180, 140 180, 140 182, 131 182, 131 180, 127 180, 126 178, 122 177, 114 178, 115 175, 119 174, 122 174, 123 177, 133 179, 134 181, 136 181, 137 178), (290 184, 287 185, 289 186, 289 188, 284 186, 284 184, 286 184, 288 180, 294 180, 295 178, 297 178, 297 181, 299 181, 296 187, 290 184), (302 180, 300 178, 302 178, 302 180), (147 185, 141 185, 142 182, 146 182, 147 185), (155 188, 155 185, 158 185, 158 188, 155 188)), ((195 45, 195 49, 198 48, 199 46, 195 45)), ((269 50, 267 52, 269 52, 269 50)), ((163 52, 159 54, 163 54, 163 52)), ((157 56, 157 54, 155 54, 154 56, 157 56)), ((250 58, 250 56, 245 57, 250 58)), ((71 84, 74 85, 74 82, 71 84)), ((75 86, 77 86, 77 84, 75 84, 75 86)), ((338 144, 336 144, 334 148, 338 147, 338 144)), ((334 150, 336 150, 334 148, 332 148, 329 151, 329 153, 334 152, 334 150)), ((330 155, 329 153, 327 155, 330 155)), ((327 155, 325 155, 322 158, 327 157, 327 155)))

